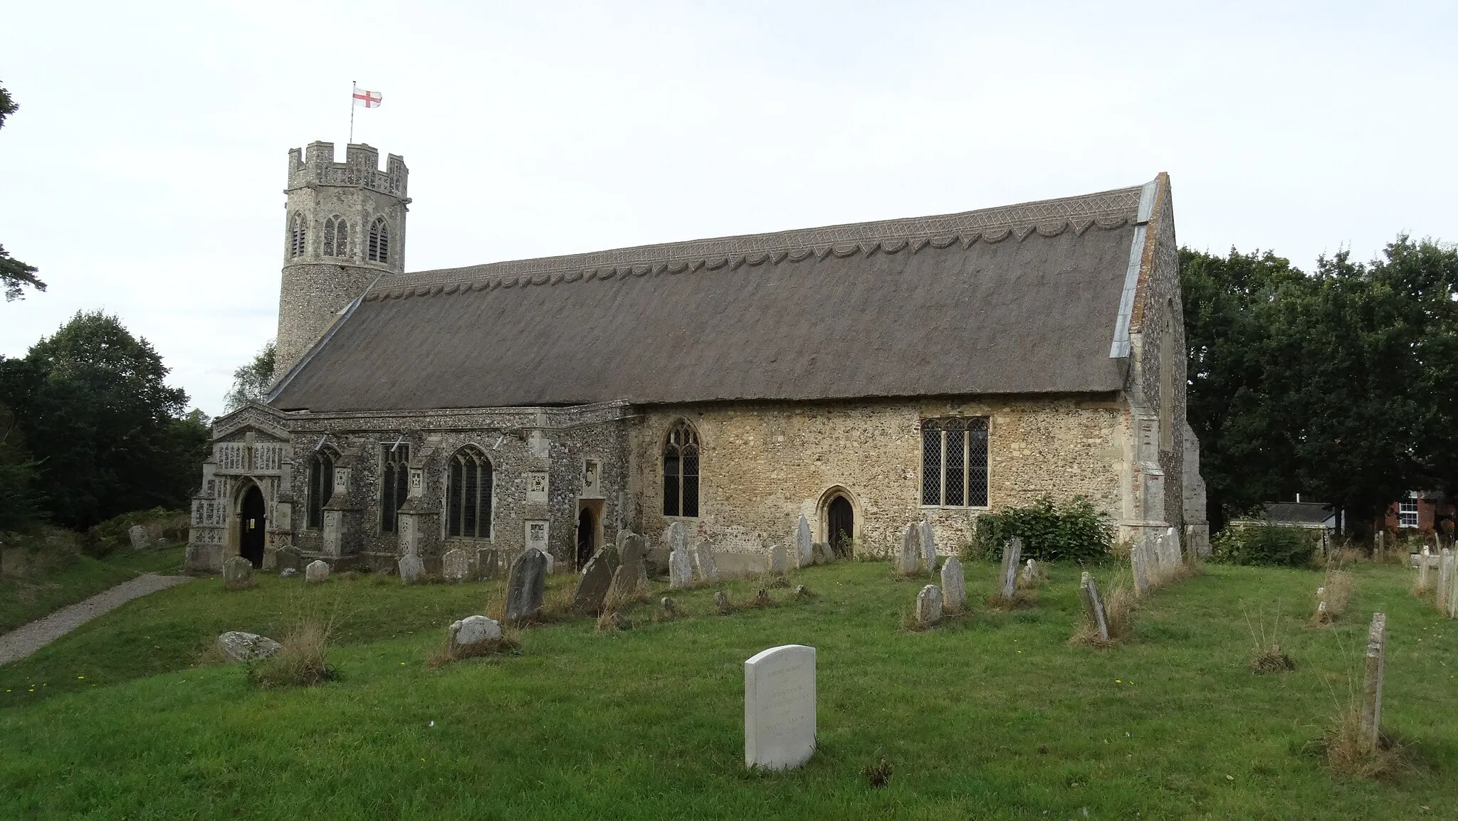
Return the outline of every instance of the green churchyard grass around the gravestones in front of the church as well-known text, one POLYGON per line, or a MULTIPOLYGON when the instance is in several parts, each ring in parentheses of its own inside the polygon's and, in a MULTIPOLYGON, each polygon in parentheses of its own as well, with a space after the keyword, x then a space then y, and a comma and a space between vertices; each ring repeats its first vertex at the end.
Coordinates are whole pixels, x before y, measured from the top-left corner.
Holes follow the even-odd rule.
MULTIPOLYGON (((1251 608, 1301 612, 1321 575, 1210 566, 1145 596, 1115 647, 1070 645, 1079 567, 1035 607, 991 612, 996 564, 968 563, 970 615, 907 633, 926 579, 837 563, 815 591, 655 623, 630 611, 519 633, 519 655, 427 666, 446 626, 502 582, 402 586, 261 575, 162 591, 0 666, 0 817, 260 818, 1410 818, 1458 814, 1458 627, 1410 572, 1349 567, 1350 612, 1293 624, 1283 675, 1248 662, 1251 608), (188 666, 223 630, 281 631, 303 595, 343 594, 338 681, 252 687, 188 666), (1406 766, 1333 774, 1321 741, 1360 688, 1366 615, 1388 614, 1382 723, 1406 766), (744 769, 744 661, 818 650, 818 750, 802 770, 744 769), (85 678, 80 678, 85 677, 85 678), (34 693, 31 688, 34 687, 34 693), (4 693, 4 690, 12 690, 4 693), (885 761, 882 789, 863 769, 885 761), (1044 812, 1047 811, 1047 815, 1044 812)), ((1096 567, 1112 577, 1114 567, 1096 567)), ((570 585, 553 576, 550 591, 570 585)), ((757 580, 723 585, 749 601, 757 580)))

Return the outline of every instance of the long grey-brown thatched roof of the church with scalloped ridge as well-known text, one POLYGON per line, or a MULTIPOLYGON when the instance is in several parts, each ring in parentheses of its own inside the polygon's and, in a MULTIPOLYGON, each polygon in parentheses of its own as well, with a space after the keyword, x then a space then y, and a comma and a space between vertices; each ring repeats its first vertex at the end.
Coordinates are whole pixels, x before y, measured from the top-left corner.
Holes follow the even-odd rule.
POLYGON ((1110 392, 1140 188, 385 277, 278 408, 1110 392))

